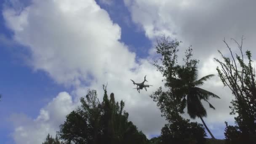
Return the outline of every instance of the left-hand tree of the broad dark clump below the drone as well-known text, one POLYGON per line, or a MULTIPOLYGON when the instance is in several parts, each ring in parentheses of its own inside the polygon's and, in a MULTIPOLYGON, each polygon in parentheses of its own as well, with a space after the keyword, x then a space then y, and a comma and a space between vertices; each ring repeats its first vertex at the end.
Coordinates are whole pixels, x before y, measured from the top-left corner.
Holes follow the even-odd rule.
POLYGON ((81 107, 67 115, 58 134, 66 144, 97 144, 102 109, 96 91, 89 89, 88 94, 80 101, 81 107))

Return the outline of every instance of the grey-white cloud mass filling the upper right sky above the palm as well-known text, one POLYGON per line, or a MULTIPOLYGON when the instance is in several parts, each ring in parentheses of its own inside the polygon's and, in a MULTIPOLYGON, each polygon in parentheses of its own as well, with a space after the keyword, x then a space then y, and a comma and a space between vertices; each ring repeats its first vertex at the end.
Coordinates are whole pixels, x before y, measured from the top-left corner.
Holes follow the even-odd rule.
MULTIPOLYGON (((192 45, 195 55, 207 58, 216 49, 226 46, 223 38, 240 39, 245 36, 245 47, 253 49, 256 30, 253 0, 124 0, 134 23, 154 40, 165 33, 171 38, 192 45)), ((236 49, 235 47, 234 49, 236 49)))

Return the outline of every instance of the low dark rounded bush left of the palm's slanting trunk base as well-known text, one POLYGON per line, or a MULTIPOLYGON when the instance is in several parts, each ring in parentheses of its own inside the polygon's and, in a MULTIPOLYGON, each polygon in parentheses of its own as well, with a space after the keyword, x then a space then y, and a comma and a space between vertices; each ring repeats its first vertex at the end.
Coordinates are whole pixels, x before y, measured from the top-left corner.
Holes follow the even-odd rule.
POLYGON ((202 124, 180 120, 165 124, 160 144, 205 144, 205 136, 202 124))

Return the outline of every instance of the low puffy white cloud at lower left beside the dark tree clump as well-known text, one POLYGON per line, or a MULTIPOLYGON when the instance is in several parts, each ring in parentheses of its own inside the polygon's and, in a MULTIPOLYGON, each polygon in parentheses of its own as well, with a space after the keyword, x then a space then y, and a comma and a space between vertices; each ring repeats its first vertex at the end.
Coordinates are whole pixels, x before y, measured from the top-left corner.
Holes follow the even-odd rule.
POLYGON ((24 114, 13 114, 11 120, 15 130, 12 133, 16 144, 41 144, 48 133, 55 136, 59 124, 75 109, 76 104, 67 92, 61 92, 47 106, 40 109, 37 118, 32 119, 24 114))

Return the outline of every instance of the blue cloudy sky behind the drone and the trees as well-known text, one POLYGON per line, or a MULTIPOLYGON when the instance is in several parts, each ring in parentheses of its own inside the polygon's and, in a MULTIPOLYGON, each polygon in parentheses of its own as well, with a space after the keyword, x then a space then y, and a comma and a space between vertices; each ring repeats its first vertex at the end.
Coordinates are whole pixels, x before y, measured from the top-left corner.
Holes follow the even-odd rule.
MULTIPOLYGON (((69 7, 69 2, 67 0, 66 7, 69 7)), ((227 19, 225 16, 222 17, 221 14, 226 11, 226 8, 220 6, 221 1, 212 4, 206 3, 205 7, 189 3, 186 0, 183 0, 182 3, 175 0, 173 2, 165 1, 165 3, 155 3, 154 0, 149 0, 147 3, 142 0, 96 0, 96 3, 93 0, 90 0, 90 2, 89 0, 88 2, 81 0, 80 2, 81 5, 92 5, 90 8, 99 11, 99 13, 93 13, 90 17, 85 13, 91 9, 77 7, 80 10, 79 13, 76 13, 77 15, 70 14, 65 17, 65 15, 62 16, 59 13, 58 9, 56 13, 59 14, 59 17, 57 18, 63 21, 63 25, 60 24, 59 27, 69 27, 70 29, 65 29, 67 32, 65 30, 63 32, 64 28, 58 31, 59 27, 56 27, 58 21, 53 20, 54 16, 51 16, 50 13, 55 10, 54 8, 62 8, 61 1, 57 0, 54 5, 51 0, 42 3, 39 1, 17 0, 12 5, 10 5, 11 2, 8 5, 3 1, 0 3, 1 144, 26 143, 25 141, 28 138, 20 136, 21 133, 35 132, 36 125, 52 126, 54 128, 49 133, 54 134, 54 131, 57 131, 55 127, 58 127, 61 120, 64 120, 64 114, 66 114, 64 112, 60 116, 62 118, 51 117, 51 115, 56 115, 51 108, 55 103, 58 104, 57 100, 61 101, 70 97, 71 102, 67 101, 70 102, 70 107, 73 107, 76 105, 77 97, 85 94, 87 88, 100 90, 101 84, 107 81, 111 85, 109 91, 117 94, 121 91, 127 91, 127 96, 119 96, 117 99, 126 101, 125 107, 130 114, 130 120, 147 136, 157 136, 160 134, 160 128, 163 127, 165 121, 160 117, 160 112, 155 103, 148 97, 148 94, 155 89, 152 88, 147 93, 138 96, 138 93, 126 89, 130 84, 129 82, 120 80, 123 77, 133 77, 140 80, 141 75, 144 76, 146 73, 150 83, 161 85, 161 75, 150 65, 152 58, 154 58, 152 48, 155 39, 165 33, 171 38, 179 38, 179 40, 184 41, 181 50, 188 45, 195 47, 195 56, 202 61, 200 63, 200 75, 208 75, 209 72, 216 73, 216 64, 212 59, 217 56, 217 48, 224 48, 221 43, 222 37, 237 38, 246 34, 247 46, 250 48, 253 45, 252 40, 256 33, 254 32, 254 26, 248 24, 255 20, 250 19, 251 11, 255 11, 250 7, 253 2, 245 3, 248 8, 242 14, 247 14, 248 19, 243 18, 243 21, 237 21, 236 17, 229 15, 229 13, 234 12, 232 9, 226 13, 229 16, 227 19), (98 5, 99 8, 97 8, 98 5), (27 8, 27 6, 31 9, 25 10, 24 8, 27 8), (47 6, 51 6, 49 7, 49 13, 43 11, 47 6), (26 15, 27 19, 22 17, 22 13, 16 13, 17 17, 12 15, 8 10, 13 10, 13 7, 16 12, 17 9, 21 8, 24 15, 29 13, 26 15), (38 9, 38 15, 33 14, 36 8, 38 9), (205 8, 208 8, 208 10, 205 8), (200 11, 205 12, 201 13, 200 11), (35 22, 39 21, 37 16, 41 16, 43 19, 41 23, 35 22), (20 19, 25 19, 27 23, 23 23, 24 21, 20 19), (49 20, 49 22, 45 20, 49 20), (77 21, 72 23, 69 20, 77 21), (209 21, 222 21, 222 23, 216 22, 214 24, 214 22, 209 21), (230 24, 228 21, 234 21, 235 24, 230 24), (245 21, 249 22, 245 23, 245 21), (89 22, 92 24, 88 24, 89 22), (81 32, 77 33, 75 27, 83 27, 79 25, 80 23, 88 25, 84 27, 85 32, 80 29, 81 32), (26 24, 29 27, 26 27, 26 24), (72 24, 77 25, 73 26, 72 24), (23 31, 19 30, 20 27, 23 31), (51 30, 48 31, 44 29, 45 27, 49 27, 51 30), (43 30, 40 31, 41 29, 43 30), (118 29, 121 30, 121 34, 118 29), (56 35, 53 36, 53 34, 56 35), (69 37, 63 36, 65 34, 69 37), (119 36, 120 39, 116 38, 119 36), (81 37, 82 39, 86 39, 86 37, 88 39, 93 38, 88 41, 85 40, 85 42, 83 40, 76 41, 81 37), (68 47, 61 48, 60 46, 62 42, 69 39, 71 41, 70 45, 74 46, 74 51, 68 47), (94 48, 91 45, 96 45, 96 47, 94 48), (101 50, 104 47, 106 47, 104 49, 105 53, 102 53, 99 59, 104 55, 108 56, 106 54, 108 53, 109 57, 106 58, 107 62, 104 64, 107 67, 103 67, 100 61, 97 62, 97 59, 93 59, 93 57, 92 59, 84 58, 90 57, 90 53, 95 53, 93 49, 101 50), (80 51, 83 51, 85 55, 81 54, 80 56, 80 51), (79 58, 84 59, 80 60, 79 58), (111 61, 108 62, 107 59, 111 59, 111 61), (92 63, 95 62, 95 67, 90 65, 90 62, 88 62, 90 60, 92 63), (62 65, 59 61, 64 61, 65 64, 62 65), (113 68, 116 69, 112 70, 113 68), (99 72, 99 69, 102 69, 102 72, 99 72), (130 69, 135 70, 130 71, 130 69), (67 94, 61 93, 63 91, 67 94), (56 99, 54 100, 54 98, 56 99), (141 103, 141 101, 144 104, 137 106, 136 104, 141 103), (50 118, 44 117, 43 112, 41 112, 42 109, 50 115, 50 118), (146 112, 146 110, 151 112, 146 112), (13 118, 13 115, 18 116, 13 118), (21 115, 24 115, 27 119, 35 120, 35 122, 30 125, 29 120, 26 121, 26 118, 24 118, 24 120, 21 120, 24 123, 19 123, 21 115), (153 118, 152 115, 158 116, 153 118), (145 124, 145 120, 148 121, 148 124, 145 124), (153 125, 152 128, 149 128, 151 125, 153 125), (15 129, 21 127, 21 132, 15 131, 15 129)), ((228 1, 225 3, 231 5, 234 9, 239 6, 239 3, 231 4, 228 1)), ((75 4, 77 5, 70 6, 70 9, 66 11, 75 10, 75 6, 78 6, 79 3, 75 2, 75 4)), ((66 43, 66 45, 69 45, 69 43, 66 43)), ((224 51, 224 49, 221 50, 224 51)), ((205 88, 221 95, 221 99, 223 99, 221 102, 213 100, 217 109, 216 111, 209 110, 208 117, 205 118, 205 122, 212 129, 212 133, 219 139, 224 138, 224 121, 233 124, 228 109, 232 96, 227 89, 222 87, 217 77, 212 83, 205 85, 205 88)), ((201 123, 200 120, 196 119, 195 121, 201 123)), ((44 132, 44 129, 38 129, 38 131, 44 132)))

